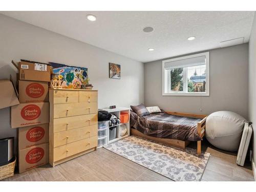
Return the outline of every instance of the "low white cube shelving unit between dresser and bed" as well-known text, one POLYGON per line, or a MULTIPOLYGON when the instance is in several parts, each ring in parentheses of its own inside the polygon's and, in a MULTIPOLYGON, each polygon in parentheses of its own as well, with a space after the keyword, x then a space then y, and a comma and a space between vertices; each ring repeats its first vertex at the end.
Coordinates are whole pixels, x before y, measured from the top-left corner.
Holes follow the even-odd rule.
POLYGON ((99 121, 98 122, 98 126, 99 126, 98 135, 100 135, 100 136, 98 136, 98 148, 130 136, 130 108, 99 109, 99 111, 102 111, 102 110, 114 114, 118 119, 120 119, 121 112, 128 113, 129 120, 127 123, 120 123, 120 124, 113 125, 113 126, 109 126, 109 124, 104 123, 104 121, 103 122, 99 121), (120 136, 120 125, 121 124, 125 124, 126 129, 127 129, 127 133, 124 136, 120 136), (117 128, 117 137, 115 139, 110 140, 110 138, 109 138, 110 131, 109 130, 111 127, 114 127, 114 126, 116 126, 116 128, 117 128), (103 131, 103 130, 105 130, 105 131, 103 131), (103 133, 99 133, 99 132, 105 132, 105 135, 103 133))

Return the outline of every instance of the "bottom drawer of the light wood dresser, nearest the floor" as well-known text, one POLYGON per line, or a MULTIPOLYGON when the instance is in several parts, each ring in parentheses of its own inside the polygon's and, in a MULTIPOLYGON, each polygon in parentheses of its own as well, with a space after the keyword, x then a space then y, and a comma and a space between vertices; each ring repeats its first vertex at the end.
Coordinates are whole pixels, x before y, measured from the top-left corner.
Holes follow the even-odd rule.
POLYGON ((53 161, 58 161, 61 159, 65 159, 72 155, 81 153, 83 151, 89 150, 90 148, 97 146, 97 136, 89 137, 87 139, 79 140, 73 143, 69 143, 66 145, 62 145, 53 149, 53 161))

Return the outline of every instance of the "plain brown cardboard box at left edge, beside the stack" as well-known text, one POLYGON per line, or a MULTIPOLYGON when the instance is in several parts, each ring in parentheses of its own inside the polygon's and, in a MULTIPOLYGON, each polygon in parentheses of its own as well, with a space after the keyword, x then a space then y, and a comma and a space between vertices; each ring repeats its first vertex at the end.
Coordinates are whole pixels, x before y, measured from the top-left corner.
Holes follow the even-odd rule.
POLYGON ((19 104, 15 88, 10 80, 0 80, 0 109, 19 104))

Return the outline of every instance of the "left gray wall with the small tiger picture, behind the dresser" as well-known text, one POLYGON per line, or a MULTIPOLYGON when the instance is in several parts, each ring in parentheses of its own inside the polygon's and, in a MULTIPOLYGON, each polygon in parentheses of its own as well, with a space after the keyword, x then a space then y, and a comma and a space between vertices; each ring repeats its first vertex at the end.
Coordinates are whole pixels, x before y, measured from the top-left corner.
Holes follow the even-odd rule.
MULTIPOLYGON (((144 100, 144 64, 0 14, 0 79, 16 77, 11 60, 29 59, 88 67, 98 106, 130 106, 144 100), (121 79, 109 78, 109 62, 121 65, 121 79)), ((9 108, 0 110, 0 138, 15 136, 9 108)))

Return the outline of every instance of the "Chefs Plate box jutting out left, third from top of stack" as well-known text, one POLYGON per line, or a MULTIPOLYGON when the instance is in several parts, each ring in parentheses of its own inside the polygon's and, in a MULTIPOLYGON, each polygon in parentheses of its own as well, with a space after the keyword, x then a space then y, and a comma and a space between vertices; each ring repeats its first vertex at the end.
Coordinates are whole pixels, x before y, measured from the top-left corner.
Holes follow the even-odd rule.
POLYGON ((49 103, 20 103, 11 107, 11 127, 49 123, 49 103))

